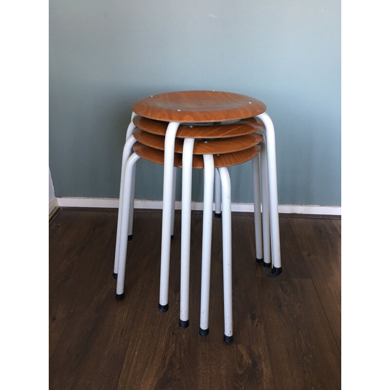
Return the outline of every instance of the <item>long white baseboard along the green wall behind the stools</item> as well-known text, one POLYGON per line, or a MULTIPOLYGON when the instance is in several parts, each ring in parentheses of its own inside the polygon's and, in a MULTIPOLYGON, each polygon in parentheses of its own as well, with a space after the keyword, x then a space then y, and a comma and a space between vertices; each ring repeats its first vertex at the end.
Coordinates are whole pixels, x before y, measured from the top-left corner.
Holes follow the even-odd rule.
MULTIPOLYGON (((96 208, 118 208, 119 199, 109 198, 55 198, 51 203, 57 201, 54 206, 59 207, 96 207, 96 208)), ((49 205, 49 214, 50 214, 49 205)), ((53 207, 53 209, 54 209, 53 207)), ((134 208, 136 209, 162 209, 161 200, 137 200, 134 202, 134 208)), ((52 209, 52 210, 53 210, 52 209)), ((176 210, 181 210, 181 202, 176 201, 176 210)), ((192 210, 203 210, 202 202, 192 202, 192 210)), ((215 209, 215 206, 213 206, 215 209)), ((312 215, 341 215, 341 206, 315 206, 315 205, 289 205, 280 204, 278 207, 279 213, 283 214, 312 214, 312 215)), ((233 212, 254 212, 253 203, 232 203, 233 212)))

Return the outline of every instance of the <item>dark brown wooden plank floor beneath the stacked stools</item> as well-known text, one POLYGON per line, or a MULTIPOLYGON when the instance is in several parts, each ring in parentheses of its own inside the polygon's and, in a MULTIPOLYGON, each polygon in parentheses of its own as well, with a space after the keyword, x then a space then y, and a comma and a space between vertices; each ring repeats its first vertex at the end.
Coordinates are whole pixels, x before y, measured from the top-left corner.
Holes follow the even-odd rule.
POLYGON ((190 327, 181 329, 180 214, 169 311, 157 309, 161 213, 136 212, 125 299, 112 277, 117 212, 49 223, 50 389, 341 388, 341 220, 280 217, 283 273, 254 261, 254 222, 233 215, 234 343, 223 342, 221 220, 213 220, 210 334, 199 328, 202 215, 192 216, 190 327))

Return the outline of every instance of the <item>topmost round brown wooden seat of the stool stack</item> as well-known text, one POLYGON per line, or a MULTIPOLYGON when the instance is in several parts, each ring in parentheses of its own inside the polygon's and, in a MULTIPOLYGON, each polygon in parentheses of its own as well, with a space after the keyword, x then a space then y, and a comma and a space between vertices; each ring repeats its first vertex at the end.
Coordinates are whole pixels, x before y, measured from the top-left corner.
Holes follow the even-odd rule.
POLYGON ((223 122, 254 117, 266 110, 260 100, 220 91, 178 91, 152 95, 133 104, 133 112, 166 122, 223 122))

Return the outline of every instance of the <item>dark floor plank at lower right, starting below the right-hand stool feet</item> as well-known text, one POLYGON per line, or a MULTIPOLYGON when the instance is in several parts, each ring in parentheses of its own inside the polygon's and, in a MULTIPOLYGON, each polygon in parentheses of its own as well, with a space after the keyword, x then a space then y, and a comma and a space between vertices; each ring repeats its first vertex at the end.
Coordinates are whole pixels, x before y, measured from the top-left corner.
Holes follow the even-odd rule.
POLYGON ((261 318, 276 389, 341 389, 341 354, 308 279, 262 278, 261 318))

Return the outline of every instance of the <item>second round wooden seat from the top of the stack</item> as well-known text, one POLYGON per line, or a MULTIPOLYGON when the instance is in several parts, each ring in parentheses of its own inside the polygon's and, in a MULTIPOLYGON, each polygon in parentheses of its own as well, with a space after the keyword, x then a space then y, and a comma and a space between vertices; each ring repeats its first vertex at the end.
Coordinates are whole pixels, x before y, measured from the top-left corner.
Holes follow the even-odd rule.
MULTIPOLYGON (((133 123, 148 133, 165 136, 167 122, 136 116, 133 123)), ((245 118, 234 123, 214 124, 214 125, 186 125, 178 127, 176 138, 225 138, 238 137, 252 134, 264 128, 264 124, 255 118, 245 118)))

